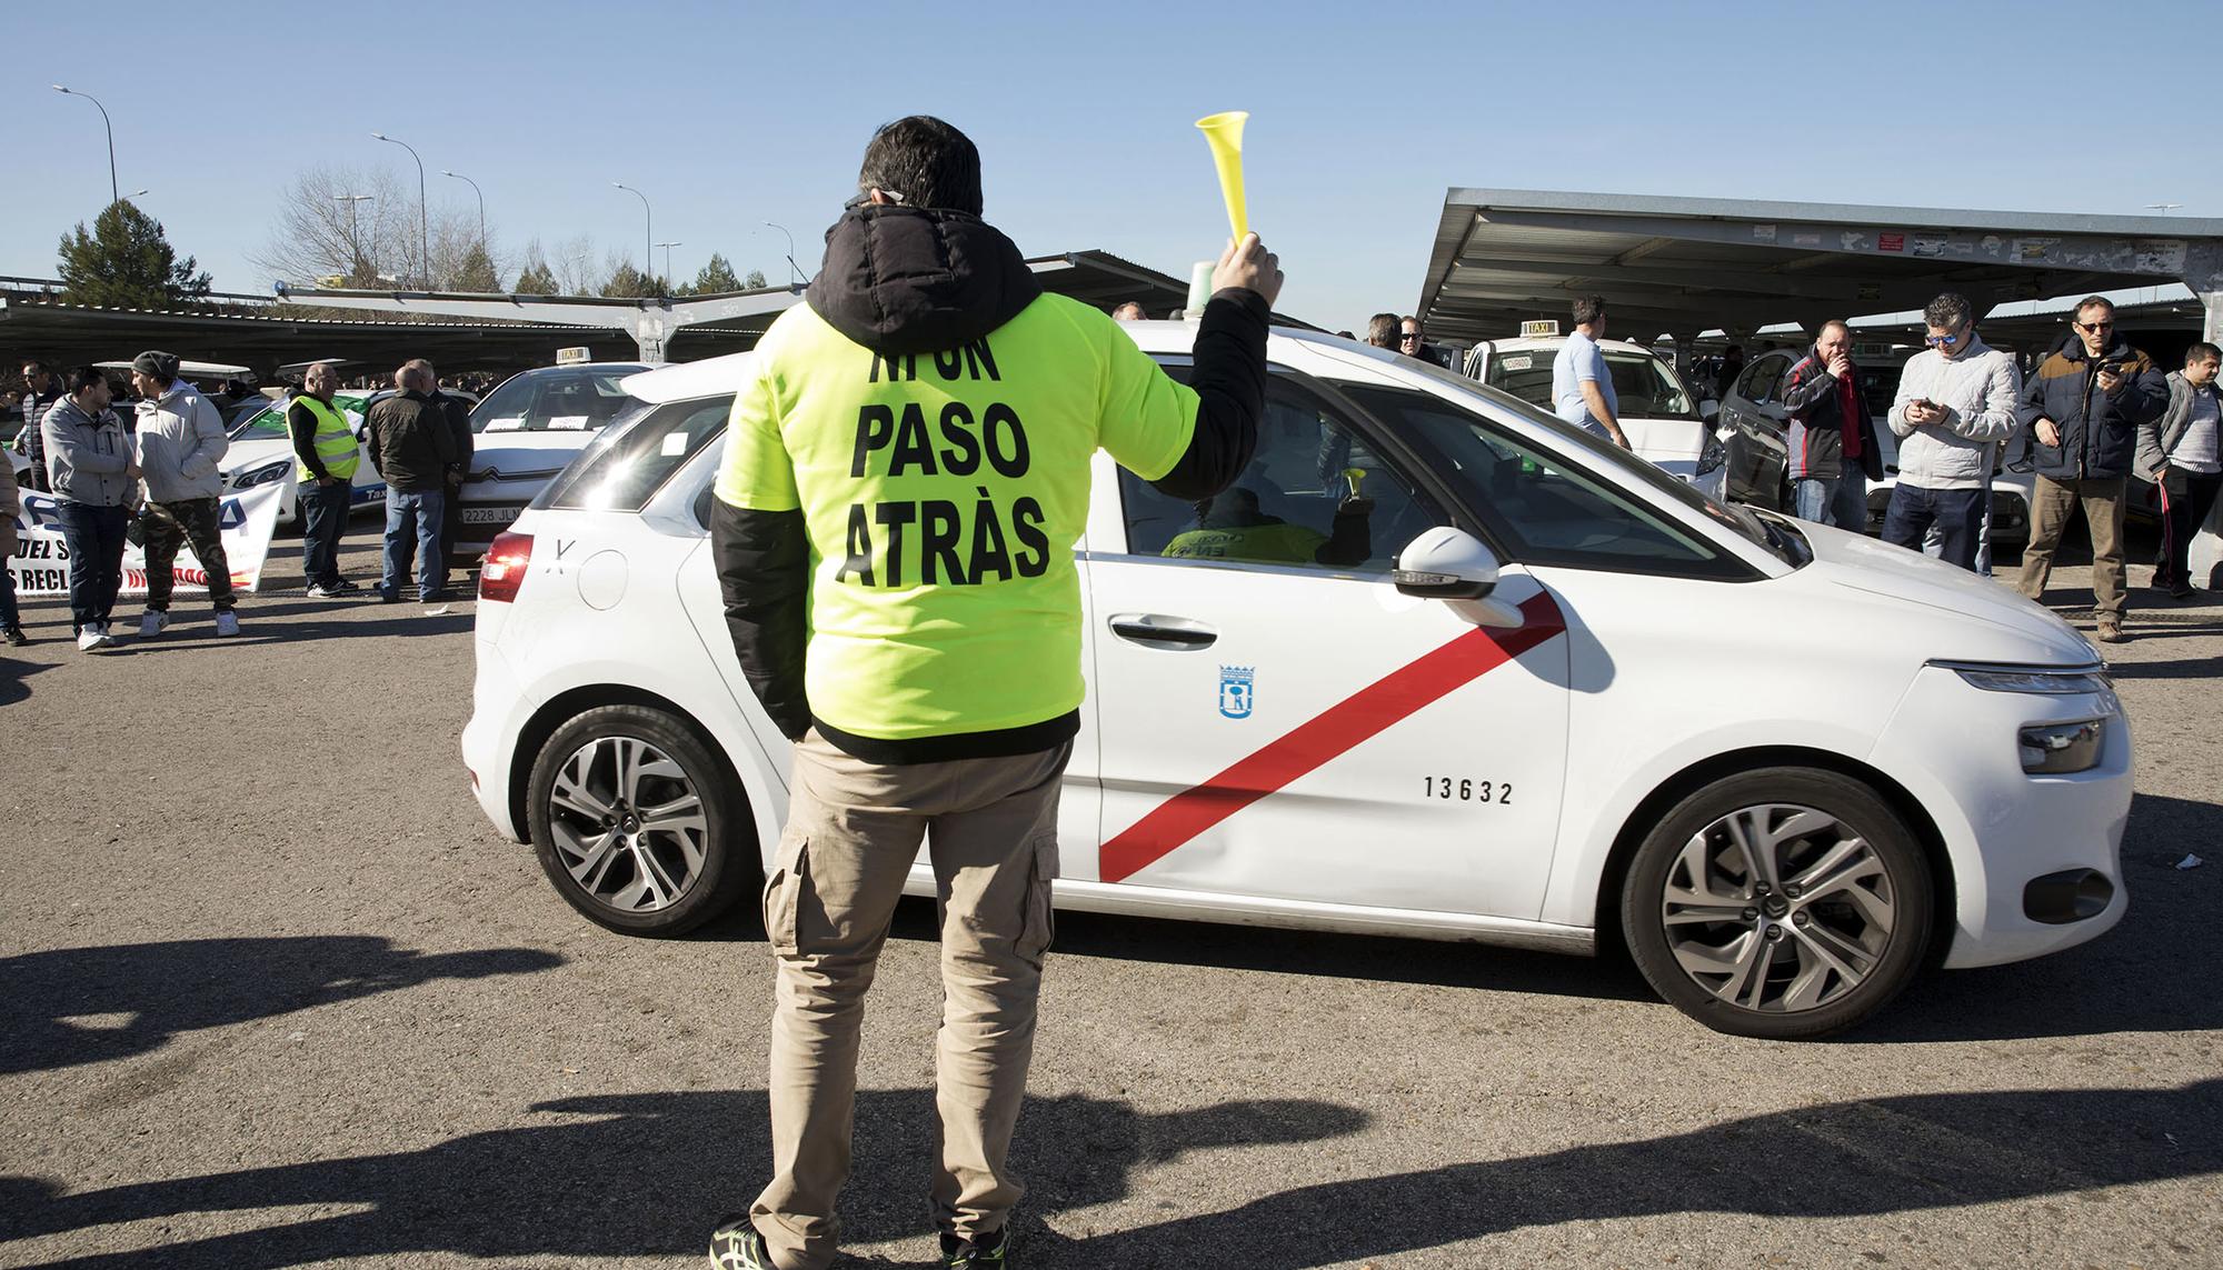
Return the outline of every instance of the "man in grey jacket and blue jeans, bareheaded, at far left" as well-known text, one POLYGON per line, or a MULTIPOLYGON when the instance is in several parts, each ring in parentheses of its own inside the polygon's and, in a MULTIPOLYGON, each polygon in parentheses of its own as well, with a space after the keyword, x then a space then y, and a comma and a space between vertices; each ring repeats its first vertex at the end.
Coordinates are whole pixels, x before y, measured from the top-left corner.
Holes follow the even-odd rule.
POLYGON ((69 546, 69 631, 80 653, 116 646, 109 615, 124 582, 124 520, 138 502, 138 460, 109 409, 109 375, 78 366, 69 395, 47 411, 40 442, 62 542, 69 546))

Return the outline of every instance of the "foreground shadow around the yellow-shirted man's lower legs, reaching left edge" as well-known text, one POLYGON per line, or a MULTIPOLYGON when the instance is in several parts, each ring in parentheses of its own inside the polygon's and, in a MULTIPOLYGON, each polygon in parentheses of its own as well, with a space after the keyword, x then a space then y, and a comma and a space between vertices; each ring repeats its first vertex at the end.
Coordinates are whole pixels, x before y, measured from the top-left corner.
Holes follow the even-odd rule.
MULTIPOLYGON (((765 1183, 771 1139, 762 1092, 658 1092, 536 1103, 529 1128, 456 1137, 416 1152, 369 1155, 58 1195, 0 1177, 0 1239, 84 1226, 171 1219, 158 1254, 176 1270, 296 1266, 325 1257, 465 1252, 514 1259, 700 1257, 711 1226, 765 1183), (196 1212, 293 1203, 371 1206, 276 1230, 193 1239, 196 1212)), ((1027 1099, 1011 1163, 1029 1212, 1125 1199, 1136 1168, 1189 1150, 1309 1143, 1358 1132, 1367 1115, 1323 1101, 1234 1101, 1147 1115, 1085 1095, 1027 1099)), ((863 1090, 856 1172, 843 1234, 878 1243, 925 1234, 934 1159, 934 1090, 863 1090)), ((147 1254, 91 1254, 53 1266, 138 1266, 147 1254)), ((1163 1263, 1163 1250, 1154 1254, 1163 1263)), ((1069 1261, 1078 1266, 1080 1261, 1069 1261)))

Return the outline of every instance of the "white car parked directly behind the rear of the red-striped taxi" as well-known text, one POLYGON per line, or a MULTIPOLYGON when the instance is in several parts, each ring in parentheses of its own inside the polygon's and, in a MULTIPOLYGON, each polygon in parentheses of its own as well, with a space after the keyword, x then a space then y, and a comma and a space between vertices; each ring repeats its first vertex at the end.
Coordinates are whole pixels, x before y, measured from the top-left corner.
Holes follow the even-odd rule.
POLYGON ((456 495, 451 557, 478 557, 494 535, 627 406, 620 380, 642 362, 536 366, 500 382, 471 411, 471 471, 456 495))

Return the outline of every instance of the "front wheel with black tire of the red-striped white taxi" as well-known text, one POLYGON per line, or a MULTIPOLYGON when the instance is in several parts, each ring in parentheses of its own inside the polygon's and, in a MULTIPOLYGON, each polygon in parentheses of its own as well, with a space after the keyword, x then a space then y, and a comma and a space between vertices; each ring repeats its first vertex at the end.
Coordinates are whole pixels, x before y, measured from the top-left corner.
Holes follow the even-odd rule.
POLYGON ((1736 1037, 1810 1039, 1876 1015, 1921 972, 1934 884, 1905 819, 1870 786, 1758 768, 1681 799, 1621 888, 1621 930, 1652 988, 1736 1037))

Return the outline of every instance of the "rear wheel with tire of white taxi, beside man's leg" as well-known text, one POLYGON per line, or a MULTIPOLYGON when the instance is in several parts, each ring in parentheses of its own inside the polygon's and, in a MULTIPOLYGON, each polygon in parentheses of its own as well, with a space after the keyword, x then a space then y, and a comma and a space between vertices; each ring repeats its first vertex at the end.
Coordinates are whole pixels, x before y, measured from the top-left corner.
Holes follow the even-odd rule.
POLYGON ((525 815, 556 893, 609 930, 685 935, 762 884, 740 784, 669 710, 565 722, 534 757, 525 815))

